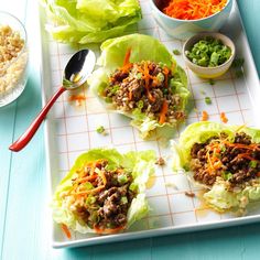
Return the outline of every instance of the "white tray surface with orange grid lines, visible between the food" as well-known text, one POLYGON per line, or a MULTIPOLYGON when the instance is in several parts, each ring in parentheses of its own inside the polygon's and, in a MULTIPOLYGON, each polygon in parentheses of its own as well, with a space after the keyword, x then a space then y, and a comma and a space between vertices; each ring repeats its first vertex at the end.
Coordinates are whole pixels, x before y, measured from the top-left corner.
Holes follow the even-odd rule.
MULTIPOLYGON (((141 0, 143 19, 139 24, 131 28, 130 32, 149 34, 159 39, 170 52, 181 50, 183 42, 173 40, 160 29, 149 8, 148 0, 141 0)), ((61 84, 62 72, 72 54, 68 45, 48 40, 52 93, 55 93, 61 84)), ((98 47, 94 50, 99 55, 98 47)), ((252 107, 248 90, 245 88, 246 79, 236 78, 232 72, 210 85, 208 80, 196 77, 185 67, 181 56, 175 56, 177 63, 186 71, 188 88, 195 102, 195 108, 188 116, 187 124, 198 121, 203 110, 209 113, 209 120, 220 121, 220 112, 225 111, 228 122, 234 124, 253 124, 252 107), (205 104, 205 97, 210 97, 212 105, 205 104)), ((61 178, 72 167, 75 159, 84 151, 97 147, 113 147, 120 152, 130 150, 141 151, 152 149, 158 156, 170 158, 169 145, 162 144, 158 139, 143 141, 126 117, 107 112, 88 89, 79 89, 77 94, 84 95, 86 101, 76 104, 69 101, 74 95, 65 94, 54 105, 52 121, 55 127, 56 159, 61 178), (104 126, 107 136, 96 132, 98 126, 104 126)), ((177 139, 185 126, 180 127, 173 139, 177 139)), ((170 162, 156 167, 156 175, 147 191, 151 213, 147 218, 139 221, 131 230, 143 230, 170 226, 191 225, 232 218, 231 215, 219 215, 201 204, 201 191, 194 187, 182 174, 173 174, 170 162), (185 192, 192 191, 195 197, 188 197, 185 192)), ((130 231, 131 231, 130 230, 130 231)), ((80 235, 74 235, 79 239, 80 235)), ((84 236, 86 238, 86 236, 84 236)))

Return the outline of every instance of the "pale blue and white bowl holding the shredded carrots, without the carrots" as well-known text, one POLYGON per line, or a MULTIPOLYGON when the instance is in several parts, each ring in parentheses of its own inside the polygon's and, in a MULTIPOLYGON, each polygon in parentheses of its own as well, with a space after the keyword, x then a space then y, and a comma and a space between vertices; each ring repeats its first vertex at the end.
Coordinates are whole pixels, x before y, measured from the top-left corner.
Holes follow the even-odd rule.
POLYGON ((164 14, 160 9, 164 0, 149 0, 152 13, 158 24, 170 35, 186 40, 198 32, 217 32, 230 14, 232 0, 227 0, 225 8, 207 18, 198 20, 181 20, 164 14))

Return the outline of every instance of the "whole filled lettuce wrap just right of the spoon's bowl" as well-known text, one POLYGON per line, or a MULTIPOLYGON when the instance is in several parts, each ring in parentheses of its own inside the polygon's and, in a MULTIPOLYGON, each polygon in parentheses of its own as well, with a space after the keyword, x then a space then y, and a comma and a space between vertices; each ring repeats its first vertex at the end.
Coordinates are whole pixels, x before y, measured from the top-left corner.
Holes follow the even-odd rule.
POLYGON ((130 117, 141 138, 185 120, 186 74, 158 40, 142 34, 107 40, 98 65, 90 88, 106 109, 130 117))

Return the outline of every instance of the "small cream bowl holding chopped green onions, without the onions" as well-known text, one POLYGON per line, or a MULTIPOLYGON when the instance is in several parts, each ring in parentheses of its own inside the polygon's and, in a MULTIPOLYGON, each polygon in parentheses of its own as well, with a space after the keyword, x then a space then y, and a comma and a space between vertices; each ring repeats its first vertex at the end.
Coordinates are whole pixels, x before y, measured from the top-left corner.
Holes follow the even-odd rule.
POLYGON ((183 58, 185 61, 186 66, 202 78, 216 78, 225 74, 231 66, 235 55, 236 55, 236 47, 234 42, 221 33, 198 33, 188 39, 183 45, 183 58), (218 39, 223 42, 224 45, 229 46, 231 48, 231 56, 229 57, 228 61, 216 67, 203 67, 194 64, 188 59, 188 57, 185 54, 186 51, 191 51, 191 48, 195 43, 197 43, 199 40, 206 36, 218 39))

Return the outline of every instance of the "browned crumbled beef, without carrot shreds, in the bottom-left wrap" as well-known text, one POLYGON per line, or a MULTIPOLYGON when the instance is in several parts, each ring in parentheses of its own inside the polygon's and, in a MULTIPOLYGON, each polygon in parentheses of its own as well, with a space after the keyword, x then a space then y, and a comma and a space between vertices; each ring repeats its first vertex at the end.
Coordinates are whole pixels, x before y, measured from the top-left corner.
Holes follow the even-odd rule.
MULTIPOLYGON (((137 193, 129 188, 133 181, 132 175, 123 169, 109 171, 106 169, 107 164, 107 161, 101 160, 95 165, 104 172, 105 187, 100 192, 87 196, 85 203, 82 198, 80 202, 75 202, 72 207, 82 221, 93 228, 107 229, 126 226, 128 209, 137 196, 137 193), (121 182, 118 178, 120 175, 123 175, 121 182)), ((87 174, 93 170, 91 166, 86 166, 84 171, 87 174)), ((93 184, 102 186, 102 177, 98 176, 93 184)))

